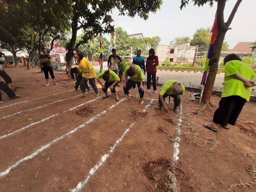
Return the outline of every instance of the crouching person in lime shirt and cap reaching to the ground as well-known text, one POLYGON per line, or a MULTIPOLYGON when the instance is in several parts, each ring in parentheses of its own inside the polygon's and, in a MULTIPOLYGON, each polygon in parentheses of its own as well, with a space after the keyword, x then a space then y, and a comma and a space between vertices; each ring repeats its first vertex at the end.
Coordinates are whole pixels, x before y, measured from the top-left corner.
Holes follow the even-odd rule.
POLYGON ((163 111, 168 113, 169 109, 165 104, 165 98, 171 96, 174 100, 174 112, 179 113, 177 107, 180 106, 181 95, 185 92, 184 85, 176 80, 168 80, 163 84, 160 94, 159 94, 159 105, 155 107, 155 109, 159 109, 163 107, 163 111))

